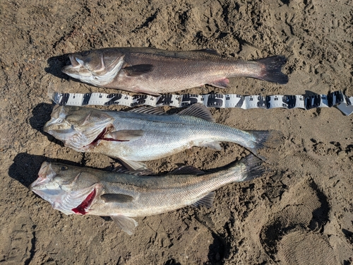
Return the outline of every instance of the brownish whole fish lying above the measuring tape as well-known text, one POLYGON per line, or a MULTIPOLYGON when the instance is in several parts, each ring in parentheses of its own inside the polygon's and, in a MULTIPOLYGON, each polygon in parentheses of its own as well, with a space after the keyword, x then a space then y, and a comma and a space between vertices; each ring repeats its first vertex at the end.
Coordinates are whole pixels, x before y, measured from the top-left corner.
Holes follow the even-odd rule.
POLYGON ((209 84, 229 87, 229 77, 252 77, 285 84, 285 57, 253 61, 225 58, 212 49, 186 52, 152 48, 106 48, 69 54, 62 71, 83 83, 160 95, 209 84))

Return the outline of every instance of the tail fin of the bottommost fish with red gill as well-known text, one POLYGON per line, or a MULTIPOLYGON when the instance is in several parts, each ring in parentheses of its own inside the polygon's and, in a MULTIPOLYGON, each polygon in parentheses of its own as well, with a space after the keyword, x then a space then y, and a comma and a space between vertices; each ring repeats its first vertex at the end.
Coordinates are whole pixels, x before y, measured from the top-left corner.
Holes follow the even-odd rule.
POLYGON ((246 155, 242 158, 239 163, 245 165, 244 175, 241 179, 237 179, 237 182, 244 182, 261 177, 265 172, 267 172, 265 166, 263 165, 263 160, 256 158, 255 155, 246 155))

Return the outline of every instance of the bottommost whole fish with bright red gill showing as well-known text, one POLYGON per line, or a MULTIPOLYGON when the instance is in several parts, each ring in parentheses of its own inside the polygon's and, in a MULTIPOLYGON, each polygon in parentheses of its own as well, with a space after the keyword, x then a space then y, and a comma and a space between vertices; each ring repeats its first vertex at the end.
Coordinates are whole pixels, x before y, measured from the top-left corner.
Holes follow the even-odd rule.
POLYGON ((164 176, 44 162, 30 189, 65 214, 110 216, 131 235, 138 225, 131 217, 152 216, 189 205, 210 207, 215 189, 261 177, 265 172, 261 162, 248 155, 218 172, 205 174, 184 166, 164 176))

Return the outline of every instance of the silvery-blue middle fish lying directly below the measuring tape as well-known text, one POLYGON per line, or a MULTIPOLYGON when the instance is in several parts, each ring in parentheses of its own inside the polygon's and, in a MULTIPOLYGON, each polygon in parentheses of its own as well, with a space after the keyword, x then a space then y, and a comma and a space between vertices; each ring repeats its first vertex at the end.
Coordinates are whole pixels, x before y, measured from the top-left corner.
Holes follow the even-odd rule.
POLYGON ((192 146, 221 150, 220 141, 244 146, 252 153, 278 146, 278 131, 241 131, 217 124, 201 104, 178 114, 139 107, 128 112, 56 105, 44 131, 78 152, 102 153, 133 170, 146 169, 139 161, 164 158, 192 146))

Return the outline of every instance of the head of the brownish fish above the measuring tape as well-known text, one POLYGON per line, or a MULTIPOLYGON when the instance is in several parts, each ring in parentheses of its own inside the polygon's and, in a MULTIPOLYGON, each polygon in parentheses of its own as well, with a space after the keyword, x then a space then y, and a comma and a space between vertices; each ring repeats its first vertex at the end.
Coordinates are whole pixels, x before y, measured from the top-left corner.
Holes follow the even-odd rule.
POLYGON ((124 54, 115 49, 95 49, 68 54, 71 65, 61 70, 68 76, 94 86, 111 83, 124 64, 124 54))

